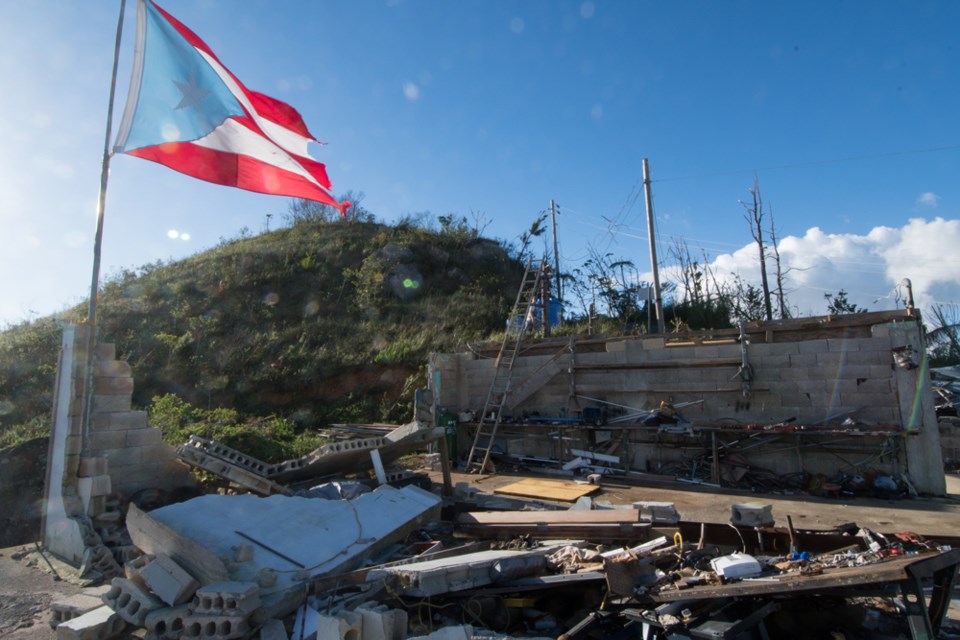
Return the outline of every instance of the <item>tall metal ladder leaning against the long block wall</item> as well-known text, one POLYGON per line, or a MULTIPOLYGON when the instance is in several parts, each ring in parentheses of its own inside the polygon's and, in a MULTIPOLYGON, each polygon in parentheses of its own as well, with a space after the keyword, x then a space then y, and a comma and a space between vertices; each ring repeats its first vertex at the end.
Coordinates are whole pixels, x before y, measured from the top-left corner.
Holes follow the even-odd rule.
MULTIPOLYGON (((513 311, 507 320, 503 342, 500 344, 500 352, 497 354, 497 360, 494 364, 493 381, 490 383, 490 390, 487 392, 487 399, 483 404, 483 413, 480 414, 480 420, 477 422, 477 432, 473 437, 473 444, 470 446, 470 454, 467 456, 466 464, 463 467, 467 472, 481 473, 490 463, 490 452, 493 449, 494 438, 503 417, 503 408, 506 406, 507 398, 510 395, 513 363, 520 351, 523 335, 538 312, 540 307, 538 301, 547 295, 547 292, 543 289, 545 288, 544 285, 549 286, 549 270, 550 267, 545 258, 534 260, 531 257, 527 260, 523 281, 520 283, 519 291, 517 291, 517 300, 514 302, 513 311)), ((544 321, 549 320, 544 319, 544 321)))

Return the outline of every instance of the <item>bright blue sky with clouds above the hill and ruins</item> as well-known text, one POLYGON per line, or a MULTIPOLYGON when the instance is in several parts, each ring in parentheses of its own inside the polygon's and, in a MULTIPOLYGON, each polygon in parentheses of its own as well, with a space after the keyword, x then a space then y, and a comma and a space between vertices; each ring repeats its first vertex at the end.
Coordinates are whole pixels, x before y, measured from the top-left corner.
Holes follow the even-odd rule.
MULTIPOLYGON (((600 250, 646 270, 649 158, 661 262, 681 238, 758 281, 738 203, 756 175, 795 311, 824 312, 840 288, 890 308, 905 277, 921 304, 960 302, 960 4, 160 5, 296 107, 328 143, 334 191, 365 193, 381 220, 476 215, 516 240, 552 198, 564 268, 600 250)), ((118 7, 0 3, 0 323, 89 292, 118 7)), ((117 156, 103 275, 276 227, 287 204, 117 156)))

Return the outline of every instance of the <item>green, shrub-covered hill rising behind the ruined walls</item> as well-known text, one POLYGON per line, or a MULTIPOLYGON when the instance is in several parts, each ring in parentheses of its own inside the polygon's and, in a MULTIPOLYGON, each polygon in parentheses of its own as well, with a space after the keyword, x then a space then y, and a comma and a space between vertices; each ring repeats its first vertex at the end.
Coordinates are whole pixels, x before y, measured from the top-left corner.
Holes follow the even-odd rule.
MULTIPOLYGON (((99 337, 134 372, 134 404, 277 416, 297 428, 403 422, 432 351, 503 327, 522 263, 445 225, 299 222, 102 286, 99 337)), ((49 428, 60 329, 85 305, 0 334, 0 448, 49 428)))

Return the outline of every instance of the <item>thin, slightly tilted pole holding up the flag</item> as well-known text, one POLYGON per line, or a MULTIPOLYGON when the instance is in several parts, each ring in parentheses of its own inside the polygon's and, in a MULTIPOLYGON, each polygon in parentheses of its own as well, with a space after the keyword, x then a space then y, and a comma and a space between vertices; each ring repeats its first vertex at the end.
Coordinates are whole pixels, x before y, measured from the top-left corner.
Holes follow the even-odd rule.
POLYGON ((90 278, 90 306, 87 310, 87 368, 85 398, 82 414, 82 451, 86 453, 93 415, 93 365, 94 347, 97 343, 97 291, 100 289, 100 247, 103 242, 103 212, 107 201, 107 179, 110 176, 110 139, 113 137, 113 101, 117 90, 117 67, 120 64, 120 41, 123 36, 123 14, 127 0, 120 0, 120 17, 117 19, 117 38, 113 47, 113 73, 110 76, 110 98, 107 102, 107 130, 103 137, 103 162, 100 166, 100 197, 97 200, 97 232, 93 240, 93 274, 90 278))

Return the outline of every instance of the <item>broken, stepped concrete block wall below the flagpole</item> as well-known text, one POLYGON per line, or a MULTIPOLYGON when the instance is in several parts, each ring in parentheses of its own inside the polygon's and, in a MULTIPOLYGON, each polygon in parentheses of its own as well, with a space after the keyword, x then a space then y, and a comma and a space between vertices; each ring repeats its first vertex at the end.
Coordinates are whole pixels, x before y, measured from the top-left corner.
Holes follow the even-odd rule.
POLYGON ((132 409, 133 374, 112 344, 93 347, 93 409, 84 433, 89 332, 87 325, 63 327, 41 525, 44 545, 74 564, 88 562, 104 530, 115 529, 118 514, 108 499, 195 484, 175 449, 147 424, 146 412, 132 409))

